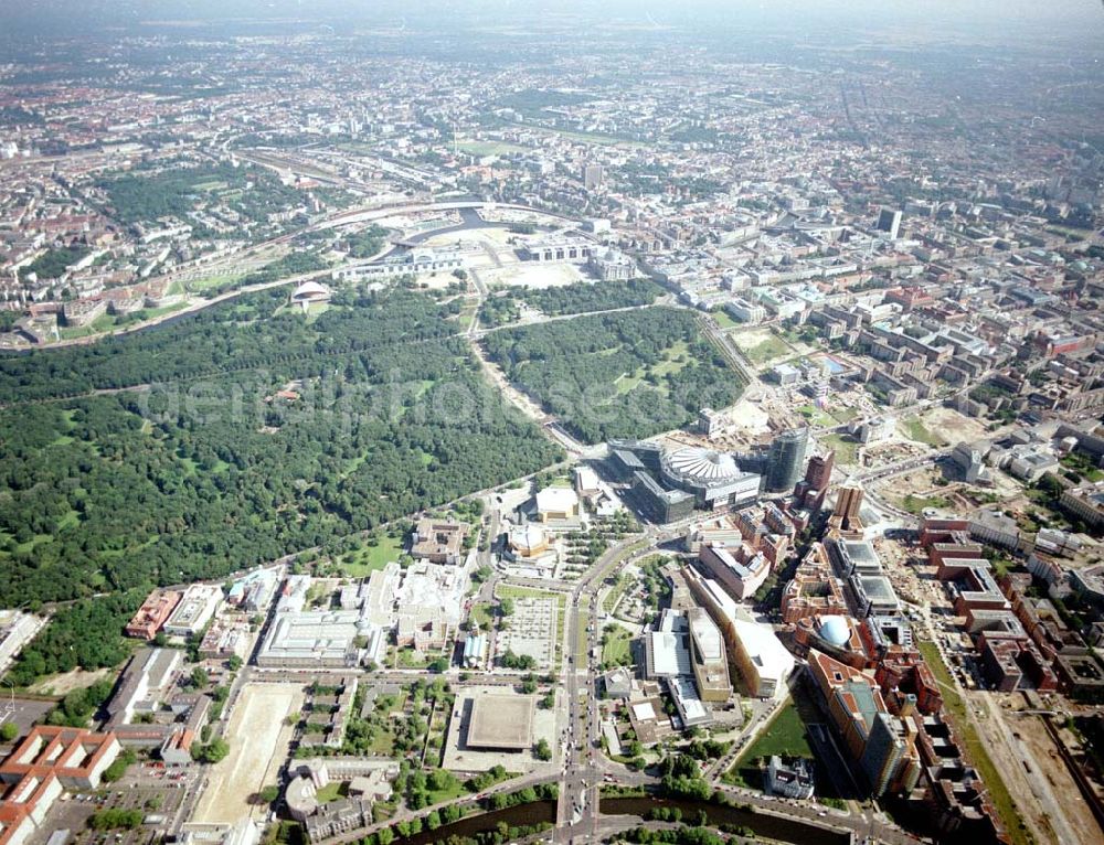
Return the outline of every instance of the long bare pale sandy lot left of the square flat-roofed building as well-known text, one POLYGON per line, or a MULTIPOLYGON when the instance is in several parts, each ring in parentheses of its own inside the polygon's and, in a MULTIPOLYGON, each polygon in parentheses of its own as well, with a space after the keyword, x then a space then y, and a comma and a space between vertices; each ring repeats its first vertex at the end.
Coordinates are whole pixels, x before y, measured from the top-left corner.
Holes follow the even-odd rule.
POLYGON ((226 730, 230 753, 212 767, 193 821, 236 822, 267 812, 251 806, 248 799, 276 782, 291 739, 293 729, 285 720, 299 710, 302 699, 298 684, 251 684, 242 691, 226 730))

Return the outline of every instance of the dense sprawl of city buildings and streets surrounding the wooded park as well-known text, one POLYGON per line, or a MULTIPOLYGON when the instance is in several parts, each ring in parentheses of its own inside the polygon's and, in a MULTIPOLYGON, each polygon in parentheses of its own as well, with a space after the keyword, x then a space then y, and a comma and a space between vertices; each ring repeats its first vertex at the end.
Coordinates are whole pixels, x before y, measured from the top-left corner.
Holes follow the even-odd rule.
MULTIPOLYGON (((679 817, 606 802, 649 798, 794 841, 1104 837, 1093 50, 936 73, 658 24, 156 23, 0 65, 11 359, 411 288, 565 460, 339 550, 144 576, 117 671, 3 689, 0 845, 406 842, 534 801, 551 841, 640 842, 679 817), (487 341, 644 279, 588 310, 691 315, 739 398, 586 442, 487 341)), ((680 343, 613 392, 692 372, 680 343)), ((322 377, 285 363, 274 416, 322 377)), ((0 610, 0 673, 63 605, 0 610)))

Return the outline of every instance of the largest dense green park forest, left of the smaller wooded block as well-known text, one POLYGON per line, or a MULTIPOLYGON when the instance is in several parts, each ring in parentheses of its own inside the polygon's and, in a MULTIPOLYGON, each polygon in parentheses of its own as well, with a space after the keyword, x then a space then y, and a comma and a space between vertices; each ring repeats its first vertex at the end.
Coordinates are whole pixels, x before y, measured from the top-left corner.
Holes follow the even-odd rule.
MULTIPOLYGON (((153 585, 222 577, 560 457, 431 299, 350 290, 314 322, 277 306, 258 293, 2 362, 0 606, 113 593, 70 612, 117 630, 153 585), (157 386, 25 402, 144 383, 157 386)), ((125 655, 117 638, 70 633, 55 620, 21 681, 125 655)))

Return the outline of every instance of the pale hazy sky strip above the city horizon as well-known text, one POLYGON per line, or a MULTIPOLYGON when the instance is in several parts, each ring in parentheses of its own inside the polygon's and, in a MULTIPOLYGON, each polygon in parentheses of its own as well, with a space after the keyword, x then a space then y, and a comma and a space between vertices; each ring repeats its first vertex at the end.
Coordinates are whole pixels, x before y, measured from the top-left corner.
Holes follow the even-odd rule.
POLYGON ((1010 36, 1068 38, 1104 44, 1102 0, 0 0, 3 24, 49 33, 96 24, 119 26, 148 21, 222 23, 254 20, 439 20, 445 23, 530 25, 542 19, 582 15, 595 23, 634 22, 692 29, 730 24, 785 33, 816 28, 836 33, 878 30, 917 33, 975 32, 987 40, 1010 36))

